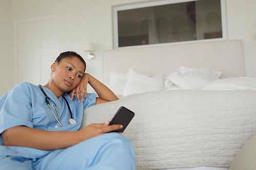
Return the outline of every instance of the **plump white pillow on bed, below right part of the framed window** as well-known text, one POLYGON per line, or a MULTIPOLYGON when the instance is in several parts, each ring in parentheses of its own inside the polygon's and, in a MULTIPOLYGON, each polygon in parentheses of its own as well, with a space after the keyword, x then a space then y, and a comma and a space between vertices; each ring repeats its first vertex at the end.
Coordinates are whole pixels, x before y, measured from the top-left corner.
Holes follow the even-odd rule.
POLYGON ((200 68, 180 75, 170 75, 169 80, 180 89, 200 90, 212 81, 217 80, 210 68, 200 68))

